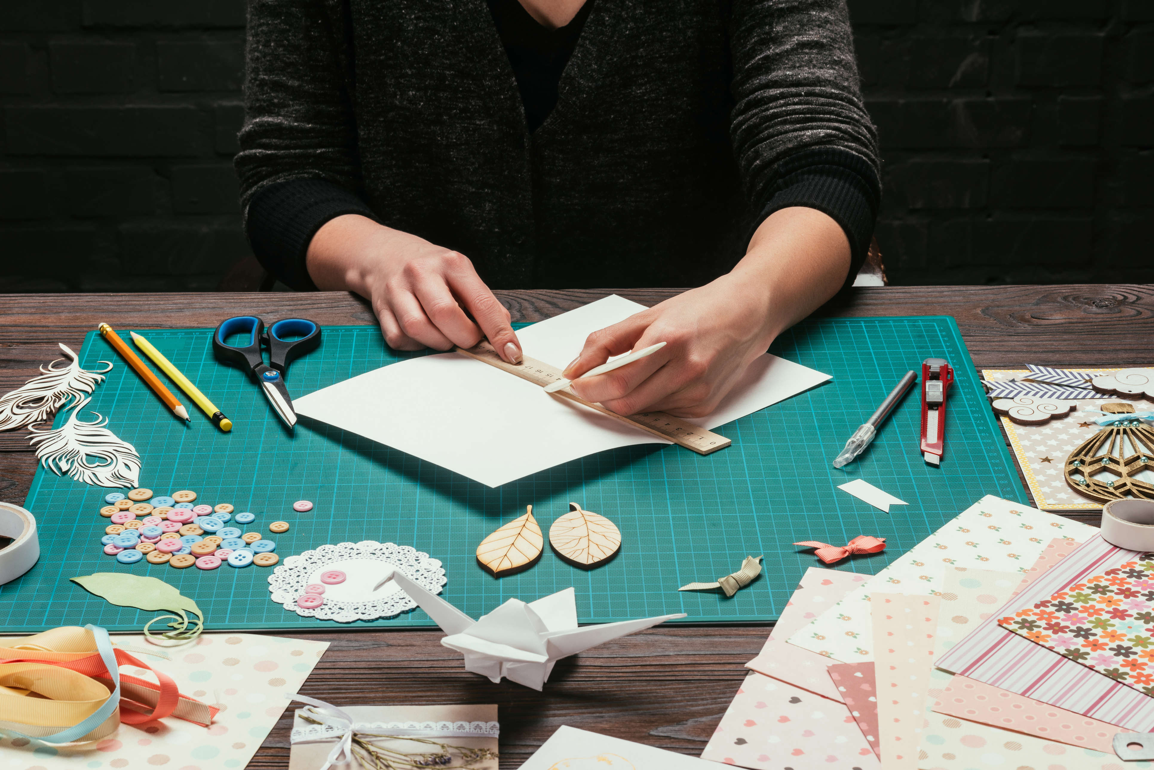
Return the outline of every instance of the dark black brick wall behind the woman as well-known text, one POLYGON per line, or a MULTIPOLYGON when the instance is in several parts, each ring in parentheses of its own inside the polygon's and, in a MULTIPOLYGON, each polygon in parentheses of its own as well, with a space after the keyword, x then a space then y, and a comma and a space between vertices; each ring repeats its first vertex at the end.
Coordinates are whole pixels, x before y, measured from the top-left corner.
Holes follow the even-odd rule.
MULTIPOLYGON (((849 0, 893 283, 1154 282, 1154 0, 849 0)), ((0 291, 248 254, 243 0, 0 2, 0 291)))

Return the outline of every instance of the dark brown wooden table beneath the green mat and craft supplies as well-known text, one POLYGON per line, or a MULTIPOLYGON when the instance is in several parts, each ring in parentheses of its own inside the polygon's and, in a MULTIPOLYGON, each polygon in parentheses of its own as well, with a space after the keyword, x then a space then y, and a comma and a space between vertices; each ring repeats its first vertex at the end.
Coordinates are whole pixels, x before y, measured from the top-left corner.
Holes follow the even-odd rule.
MULTIPOLYGON (((539 321, 607 291, 509 291, 514 321, 539 321)), ((617 290, 653 305, 674 290, 617 290)), ((374 323, 360 299, 337 292, 0 296, 0 393, 78 350, 87 331, 212 327, 239 313, 304 315, 321 324, 374 323)), ((953 315, 979 367, 1134 366, 1154 361, 1154 286, 919 286, 859 289, 831 315, 953 315)), ((929 353, 929 351, 927 351, 929 353)), ((36 471, 24 432, 0 434, 0 500, 22 503, 36 471)), ((1077 516, 1093 521, 1093 516, 1077 516)), ((767 625, 766 625, 767 626, 767 625)), ((334 630, 280 634, 332 642, 301 693, 338 705, 497 703, 501 768, 520 765, 562 724, 698 755, 760 649, 767 627, 658 627, 557 664, 545 693, 466 673, 440 631, 334 630)), ((250 768, 284 768, 287 717, 250 768)))

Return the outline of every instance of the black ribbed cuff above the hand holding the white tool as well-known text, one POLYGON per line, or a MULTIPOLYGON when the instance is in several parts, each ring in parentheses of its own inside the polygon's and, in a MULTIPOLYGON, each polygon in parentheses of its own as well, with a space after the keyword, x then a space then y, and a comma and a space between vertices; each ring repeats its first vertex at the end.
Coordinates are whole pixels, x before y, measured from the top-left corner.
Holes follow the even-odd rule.
POLYGON ((840 148, 805 150, 781 164, 772 192, 758 224, 790 205, 829 215, 849 239, 846 285, 852 285, 865 262, 882 200, 882 185, 874 167, 861 156, 840 148))

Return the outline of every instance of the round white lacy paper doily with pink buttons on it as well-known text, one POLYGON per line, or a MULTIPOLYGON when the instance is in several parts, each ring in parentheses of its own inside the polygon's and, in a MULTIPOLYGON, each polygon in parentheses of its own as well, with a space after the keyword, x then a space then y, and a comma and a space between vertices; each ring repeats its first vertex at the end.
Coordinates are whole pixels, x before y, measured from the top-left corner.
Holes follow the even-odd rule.
POLYGON ((448 582, 441 562, 429 559, 427 553, 396 543, 361 540, 322 545, 315 551, 288 556, 273 567, 269 591, 273 601, 302 618, 340 623, 394 618, 413 610, 417 603, 391 581, 373 590, 389 567, 400 569, 409 580, 433 593, 440 593, 441 586, 448 582), (320 607, 307 610, 297 606, 297 598, 305 593, 305 586, 320 583, 321 573, 330 569, 343 571, 345 582, 325 585, 324 604, 320 607))

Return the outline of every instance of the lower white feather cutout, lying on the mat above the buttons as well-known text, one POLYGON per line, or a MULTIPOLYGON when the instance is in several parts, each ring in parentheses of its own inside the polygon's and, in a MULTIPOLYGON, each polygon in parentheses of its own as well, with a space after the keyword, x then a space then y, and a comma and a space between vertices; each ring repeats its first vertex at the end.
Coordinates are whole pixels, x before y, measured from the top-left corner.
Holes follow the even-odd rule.
POLYGON ((37 429, 31 443, 40 464, 57 476, 70 476, 77 481, 103 487, 134 487, 141 474, 141 456, 130 443, 121 441, 104 427, 108 420, 96 414, 95 423, 77 418, 88 404, 84 398, 59 428, 37 429))

